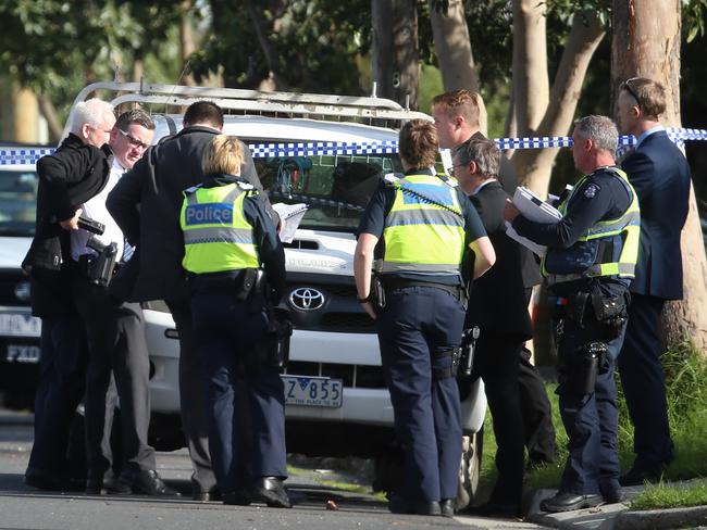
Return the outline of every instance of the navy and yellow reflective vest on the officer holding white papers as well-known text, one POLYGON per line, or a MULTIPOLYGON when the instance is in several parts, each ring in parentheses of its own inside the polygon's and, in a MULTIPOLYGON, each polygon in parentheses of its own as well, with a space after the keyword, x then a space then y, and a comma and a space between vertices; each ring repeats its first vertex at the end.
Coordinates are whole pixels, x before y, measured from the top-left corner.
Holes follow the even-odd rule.
MULTIPOLYGON (((607 167, 606 171, 613 173, 629 191, 631 204, 620 217, 595 223, 569 249, 547 249, 542 270, 550 286, 587 278, 635 276, 641 238, 638 197, 623 171, 617 167, 607 167)), ((560 205, 562 214, 574 192, 590 176, 582 178, 560 205)))

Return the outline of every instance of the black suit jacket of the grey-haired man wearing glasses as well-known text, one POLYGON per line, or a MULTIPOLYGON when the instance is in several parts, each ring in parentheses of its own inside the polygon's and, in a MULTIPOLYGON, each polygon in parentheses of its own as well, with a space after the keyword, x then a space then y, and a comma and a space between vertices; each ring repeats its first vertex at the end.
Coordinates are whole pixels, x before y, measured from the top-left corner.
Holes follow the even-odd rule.
POLYGON ((496 263, 472 286, 467 323, 484 330, 532 338, 525 286, 521 275, 522 254, 530 252, 506 236, 504 206, 508 193, 500 182, 485 185, 470 200, 476 207, 496 251, 496 263))

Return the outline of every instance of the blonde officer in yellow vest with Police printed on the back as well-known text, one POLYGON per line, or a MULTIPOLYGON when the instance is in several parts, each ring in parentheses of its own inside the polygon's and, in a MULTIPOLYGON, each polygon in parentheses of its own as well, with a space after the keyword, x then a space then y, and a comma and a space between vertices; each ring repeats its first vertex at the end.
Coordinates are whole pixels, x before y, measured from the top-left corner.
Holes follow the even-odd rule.
POLYGON ((238 176, 243 149, 224 135, 206 148, 207 180, 184 192, 183 266, 206 366, 209 450, 223 502, 288 508, 283 382, 276 363, 262 355, 271 328, 268 304, 276 304, 285 287, 285 254, 262 198, 238 176), (270 287, 259 281, 262 266, 270 287), (250 416, 247 462, 238 434, 244 412, 250 416))

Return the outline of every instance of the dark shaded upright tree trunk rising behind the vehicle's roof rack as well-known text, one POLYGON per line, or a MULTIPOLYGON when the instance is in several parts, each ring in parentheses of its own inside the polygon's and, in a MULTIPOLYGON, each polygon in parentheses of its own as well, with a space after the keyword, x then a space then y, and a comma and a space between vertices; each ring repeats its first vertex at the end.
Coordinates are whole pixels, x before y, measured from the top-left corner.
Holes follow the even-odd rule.
POLYGON ((420 54, 414 0, 371 0, 377 96, 418 108, 420 54))

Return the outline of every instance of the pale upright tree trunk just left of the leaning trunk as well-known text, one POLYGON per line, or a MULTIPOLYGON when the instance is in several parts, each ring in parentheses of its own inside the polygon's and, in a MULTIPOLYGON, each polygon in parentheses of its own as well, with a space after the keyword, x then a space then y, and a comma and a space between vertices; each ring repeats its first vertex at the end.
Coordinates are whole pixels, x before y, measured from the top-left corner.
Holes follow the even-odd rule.
POLYGON ((545 2, 513 0, 513 102, 520 135, 531 135, 547 109, 545 16, 545 2))

